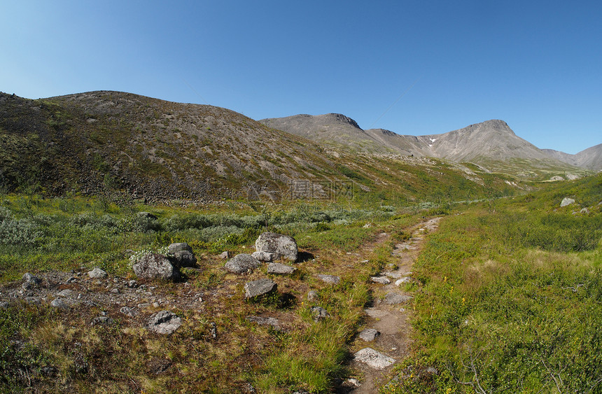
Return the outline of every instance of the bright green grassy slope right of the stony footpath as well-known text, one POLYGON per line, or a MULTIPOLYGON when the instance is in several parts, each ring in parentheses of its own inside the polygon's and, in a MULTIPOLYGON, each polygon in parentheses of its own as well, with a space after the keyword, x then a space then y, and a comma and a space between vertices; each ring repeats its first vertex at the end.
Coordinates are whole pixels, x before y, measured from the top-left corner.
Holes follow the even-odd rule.
POLYGON ((594 176, 444 218, 415 266, 414 356, 382 392, 601 393, 601 202, 594 176))

